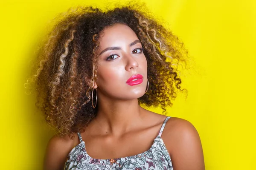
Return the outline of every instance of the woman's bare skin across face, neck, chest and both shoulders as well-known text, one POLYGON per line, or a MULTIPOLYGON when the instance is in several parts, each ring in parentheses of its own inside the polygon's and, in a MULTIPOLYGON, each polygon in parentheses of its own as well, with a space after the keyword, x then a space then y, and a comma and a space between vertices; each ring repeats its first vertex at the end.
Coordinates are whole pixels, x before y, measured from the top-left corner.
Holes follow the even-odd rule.
MULTIPOLYGON (((134 31, 115 24, 100 34, 98 80, 98 113, 82 139, 87 153, 95 159, 133 156, 148 150, 166 116, 138 105, 147 85, 147 61, 134 31), (115 48, 112 48, 115 47, 115 48), (143 75, 143 83, 130 86, 126 81, 134 74, 143 75)), ((79 144, 74 139, 53 136, 44 160, 44 170, 63 170, 70 151, 79 144)), ((200 137, 188 121, 172 117, 162 134, 174 170, 205 170, 200 137)))

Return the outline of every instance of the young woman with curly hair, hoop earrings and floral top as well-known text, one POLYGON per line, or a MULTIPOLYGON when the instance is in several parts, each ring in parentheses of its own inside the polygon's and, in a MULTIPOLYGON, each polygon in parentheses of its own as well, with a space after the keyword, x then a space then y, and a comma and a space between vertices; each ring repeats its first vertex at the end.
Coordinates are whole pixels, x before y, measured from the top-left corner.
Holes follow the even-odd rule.
POLYGON ((172 106, 186 60, 177 37, 146 16, 83 7, 54 26, 34 77, 58 132, 45 170, 204 170, 195 127, 140 106, 172 106))

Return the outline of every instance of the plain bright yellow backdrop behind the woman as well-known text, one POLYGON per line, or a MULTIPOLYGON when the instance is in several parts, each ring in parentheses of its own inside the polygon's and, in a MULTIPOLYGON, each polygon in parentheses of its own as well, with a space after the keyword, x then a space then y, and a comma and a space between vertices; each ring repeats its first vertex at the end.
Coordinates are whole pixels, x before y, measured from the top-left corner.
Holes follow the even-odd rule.
MULTIPOLYGON (((94 4, 102 8, 103 2, 94 4)), ((182 74, 188 97, 178 96, 169 116, 189 120, 197 128, 207 170, 255 170, 256 1, 145 2, 156 17, 169 23, 194 58, 193 68, 182 74)), ((0 2, 0 169, 42 169, 52 132, 23 84, 50 20, 82 4, 92 3, 0 2)))

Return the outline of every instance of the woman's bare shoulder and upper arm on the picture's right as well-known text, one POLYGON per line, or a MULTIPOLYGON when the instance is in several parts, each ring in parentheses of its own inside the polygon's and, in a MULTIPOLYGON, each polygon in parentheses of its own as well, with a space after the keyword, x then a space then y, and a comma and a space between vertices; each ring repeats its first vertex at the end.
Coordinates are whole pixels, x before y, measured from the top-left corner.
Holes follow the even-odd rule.
POLYGON ((196 128, 185 119, 170 118, 162 135, 175 170, 204 170, 204 155, 196 128))

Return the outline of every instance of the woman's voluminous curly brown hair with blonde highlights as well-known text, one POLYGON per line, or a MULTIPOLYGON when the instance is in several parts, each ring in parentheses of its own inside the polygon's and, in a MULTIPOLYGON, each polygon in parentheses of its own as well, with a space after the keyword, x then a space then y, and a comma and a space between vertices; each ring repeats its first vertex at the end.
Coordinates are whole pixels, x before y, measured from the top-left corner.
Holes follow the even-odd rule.
POLYGON ((177 65, 186 63, 187 51, 178 38, 148 14, 134 7, 79 7, 59 17, 38 53, 38 65, 29 83, 35 83, 37 105, 60 136, 81 132, 96 116, 91 93, 97 79, 99 33, 123 23, 143 45, 148 63, 149 88, 138 99, 145 106, 160 106, 163 113, 180 89, 177 65))

